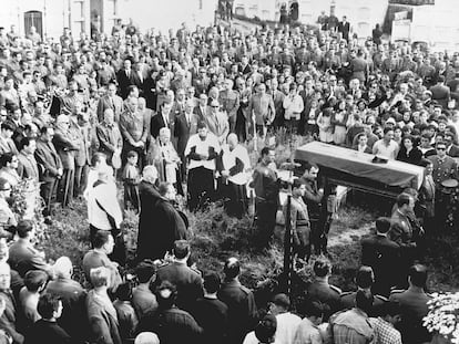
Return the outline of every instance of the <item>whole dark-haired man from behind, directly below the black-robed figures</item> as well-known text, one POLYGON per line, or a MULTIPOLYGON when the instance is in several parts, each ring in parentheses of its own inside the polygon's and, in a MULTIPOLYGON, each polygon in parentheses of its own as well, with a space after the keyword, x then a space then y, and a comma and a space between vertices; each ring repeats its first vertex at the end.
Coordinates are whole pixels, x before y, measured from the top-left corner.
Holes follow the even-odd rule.
POLYGON ((176 305, 181 310, 192 312, 197 299, 203 296, 203 283, 201 274, 186 265, 190 258, 190 243, 186 240, 174 242, 174 261, 161 267, 156 273, 156 285, 163 281, 170 281, 177 288, 176 305))

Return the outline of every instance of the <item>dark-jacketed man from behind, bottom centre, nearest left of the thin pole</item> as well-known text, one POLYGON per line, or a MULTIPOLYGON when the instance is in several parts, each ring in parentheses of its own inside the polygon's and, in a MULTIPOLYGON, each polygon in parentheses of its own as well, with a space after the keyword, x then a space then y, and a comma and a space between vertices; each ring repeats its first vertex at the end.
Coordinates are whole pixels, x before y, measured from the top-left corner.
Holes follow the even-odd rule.
POLYGON ((226 260, 223 272, 225 280, 218 292, 218 300, 228 306, 227 343, 241 344, 256 324, 255 298, 252 291, 239 282, 241 263, 236 258, 226 260))

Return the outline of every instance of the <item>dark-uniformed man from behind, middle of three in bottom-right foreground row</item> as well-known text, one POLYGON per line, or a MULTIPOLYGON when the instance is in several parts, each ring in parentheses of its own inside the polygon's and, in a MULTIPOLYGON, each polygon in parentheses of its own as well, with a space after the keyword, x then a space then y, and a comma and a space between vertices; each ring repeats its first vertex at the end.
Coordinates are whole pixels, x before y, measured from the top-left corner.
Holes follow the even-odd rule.
MULTIPOLYGON (((356 275, 357 291, 363 290, 365 292, 370 293, 374 282, 375 282, 375 274, 373 273, 373 269, 370 267, 360 267, 356 275)), ((339 295, 340 307, 343 310, 350 310, 355 307, 357 291, 344 292, 339 295)), ((381 304, 384 304, 387 301, 388 301, 387 298, 382 295, 374 294, 373 295, 373 311, 368 315, 376 316, 375 310, 377 310, 377 307, 379 307, 381 304)))

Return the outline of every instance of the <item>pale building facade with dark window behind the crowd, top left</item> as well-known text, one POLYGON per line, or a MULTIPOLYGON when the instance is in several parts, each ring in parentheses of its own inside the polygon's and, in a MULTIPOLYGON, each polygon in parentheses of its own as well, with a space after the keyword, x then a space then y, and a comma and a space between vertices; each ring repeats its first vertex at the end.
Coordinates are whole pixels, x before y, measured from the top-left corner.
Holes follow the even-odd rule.
POLYGON ((59 38, 68 27, 79 37, 90 33, 91 22, 111 33, 116 19, 128 23, 132 18, 142 32, 151 28, 166 32, 182 22, 190 28, 208 25, 216 6, 217 0, 0 0, 0 25, 7 30, 16 25, 21 34, 33 25, 42 38, 59 38))

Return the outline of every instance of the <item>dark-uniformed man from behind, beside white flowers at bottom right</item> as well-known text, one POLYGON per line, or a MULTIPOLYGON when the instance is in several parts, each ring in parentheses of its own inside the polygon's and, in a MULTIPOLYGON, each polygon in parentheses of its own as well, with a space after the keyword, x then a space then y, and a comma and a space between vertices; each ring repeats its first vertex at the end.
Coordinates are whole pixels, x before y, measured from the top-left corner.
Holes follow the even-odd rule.
POLYGON ((401 309, 399 330, 404 343, 430 343, 431 335, 422 326, 422 319, 429 312, 431 296, 425 292, 427 268, 415 264, 408 272, 407 290, 394 290, 389 301, 398 302, 401 309))

